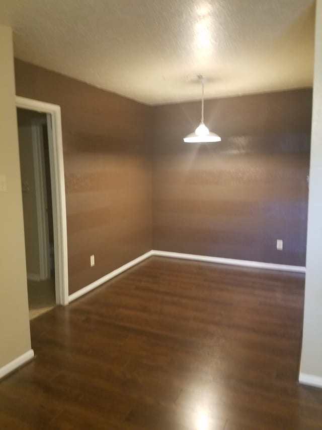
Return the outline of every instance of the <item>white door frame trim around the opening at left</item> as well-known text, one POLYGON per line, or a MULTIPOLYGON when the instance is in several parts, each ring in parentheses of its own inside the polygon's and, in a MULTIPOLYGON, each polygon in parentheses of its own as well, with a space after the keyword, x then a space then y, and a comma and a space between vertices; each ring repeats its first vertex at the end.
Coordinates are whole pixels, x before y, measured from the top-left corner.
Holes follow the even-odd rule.
POLYGON ((16 96, 16 107, 47 114, 54 230, 55 295, 56 304, 66 305, 68 304, 67 222, 60 106, 16 96))

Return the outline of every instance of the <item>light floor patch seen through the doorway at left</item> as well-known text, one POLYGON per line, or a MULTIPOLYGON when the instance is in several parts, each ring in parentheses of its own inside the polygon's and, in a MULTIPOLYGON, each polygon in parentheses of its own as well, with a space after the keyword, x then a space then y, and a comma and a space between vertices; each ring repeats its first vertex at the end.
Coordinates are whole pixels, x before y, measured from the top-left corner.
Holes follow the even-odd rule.
POLYGON ((45 281, 28 279, 27 284, 29 319, 33 320, 55 307, 55 282, 53 278, 45 281))

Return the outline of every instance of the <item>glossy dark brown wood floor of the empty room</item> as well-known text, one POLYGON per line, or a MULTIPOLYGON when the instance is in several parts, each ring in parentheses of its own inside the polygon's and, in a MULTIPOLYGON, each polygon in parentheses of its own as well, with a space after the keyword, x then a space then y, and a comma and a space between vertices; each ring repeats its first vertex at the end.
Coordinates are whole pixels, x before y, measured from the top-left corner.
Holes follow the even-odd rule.
POLYGON ((151 258, 31 322, 0 428, 317 430, 301 275, 151 258))

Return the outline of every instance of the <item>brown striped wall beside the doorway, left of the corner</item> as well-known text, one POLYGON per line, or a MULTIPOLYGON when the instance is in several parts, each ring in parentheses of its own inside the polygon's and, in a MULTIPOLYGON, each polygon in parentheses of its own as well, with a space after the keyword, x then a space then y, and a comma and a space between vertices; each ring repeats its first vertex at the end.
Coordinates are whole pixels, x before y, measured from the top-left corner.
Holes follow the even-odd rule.
POLYGON ((15 69, 17 95, 61 107, 72 293, 151 249, 151 109, 20 60, 15 69))

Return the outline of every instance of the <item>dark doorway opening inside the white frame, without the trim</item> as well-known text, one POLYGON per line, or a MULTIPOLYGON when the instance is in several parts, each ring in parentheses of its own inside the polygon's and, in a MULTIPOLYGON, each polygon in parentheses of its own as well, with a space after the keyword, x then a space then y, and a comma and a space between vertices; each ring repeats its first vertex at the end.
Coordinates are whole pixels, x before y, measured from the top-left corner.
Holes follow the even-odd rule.
POLYGON ((17 108, 29 319, 56 304, 48 126, 45 113, 17 108))

